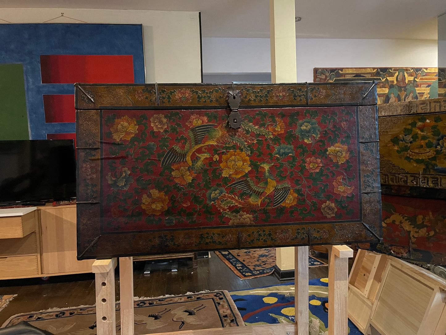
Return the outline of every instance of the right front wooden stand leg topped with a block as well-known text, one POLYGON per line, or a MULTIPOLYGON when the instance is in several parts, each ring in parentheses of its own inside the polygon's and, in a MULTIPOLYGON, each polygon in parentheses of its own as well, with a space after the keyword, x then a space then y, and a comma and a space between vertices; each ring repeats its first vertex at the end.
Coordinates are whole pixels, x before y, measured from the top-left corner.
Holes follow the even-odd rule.
POLYGON ((328 247, 328 335, 348 332, 348 259, 353 250, 346 245, 328 247))

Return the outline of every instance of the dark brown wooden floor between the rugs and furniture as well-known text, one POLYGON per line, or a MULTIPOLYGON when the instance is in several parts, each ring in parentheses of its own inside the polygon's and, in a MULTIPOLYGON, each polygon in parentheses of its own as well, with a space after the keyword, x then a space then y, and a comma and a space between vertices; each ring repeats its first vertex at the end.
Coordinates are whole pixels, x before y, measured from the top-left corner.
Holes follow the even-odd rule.
MULTIPOLYGON (((326 254, 317 254, 327 261, 326 254)), ((351 262, 350 262, 351 263, 351 262)), ((274 275, 240 280, 213 252, 211 258, 199 259, 198 270, 192 269, 191 260, 179 261, 178 271, 158 271, 144 274, 145 262, 134 262, 134 293, 137 297, 158 297, 165 294, 185 294, 202 290, 228 291, 276 285, 274 275)), ((328 267, 310 268, 310 279, 328 276, 328 267)), ((48 281, 40 278, 0 281, 0 295, 17 294, 0 312, 0 325, 19 313, 37 312, 58 307, 95 304, 95 281, 92 273, 54 276, 48 281)), ((119 270, 116 269, 116 301, 119 300, 119 270)))

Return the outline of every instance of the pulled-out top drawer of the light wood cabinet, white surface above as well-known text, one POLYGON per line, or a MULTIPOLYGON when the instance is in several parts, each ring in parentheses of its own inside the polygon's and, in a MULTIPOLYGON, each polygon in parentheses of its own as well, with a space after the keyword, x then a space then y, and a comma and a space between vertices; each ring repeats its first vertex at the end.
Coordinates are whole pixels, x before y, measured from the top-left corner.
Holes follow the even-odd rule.
POLYGON ((22 216, 0 218, 0 239, 24 237, 36 231, 36 211, 22 216))

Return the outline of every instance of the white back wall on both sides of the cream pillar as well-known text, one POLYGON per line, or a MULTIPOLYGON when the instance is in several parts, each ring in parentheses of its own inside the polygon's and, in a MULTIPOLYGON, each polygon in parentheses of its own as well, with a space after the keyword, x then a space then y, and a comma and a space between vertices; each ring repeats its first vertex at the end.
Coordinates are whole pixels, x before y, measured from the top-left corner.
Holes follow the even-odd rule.
MULTIPOLYGON (((203 73, 270 72, 269 38, 203 38, 203 73)), ((314 67, 437 67, 435 40, 297 38, 297 82, 314 67)))

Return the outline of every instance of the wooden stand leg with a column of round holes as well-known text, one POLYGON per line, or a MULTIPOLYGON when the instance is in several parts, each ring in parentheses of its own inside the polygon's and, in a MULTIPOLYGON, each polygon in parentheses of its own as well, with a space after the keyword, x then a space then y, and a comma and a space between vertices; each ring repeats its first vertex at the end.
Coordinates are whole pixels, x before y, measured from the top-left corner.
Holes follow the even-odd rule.
POLYGON ((97 334, 116 335, 116 258, 95 260, 91 268, 95 273, 97 334))

